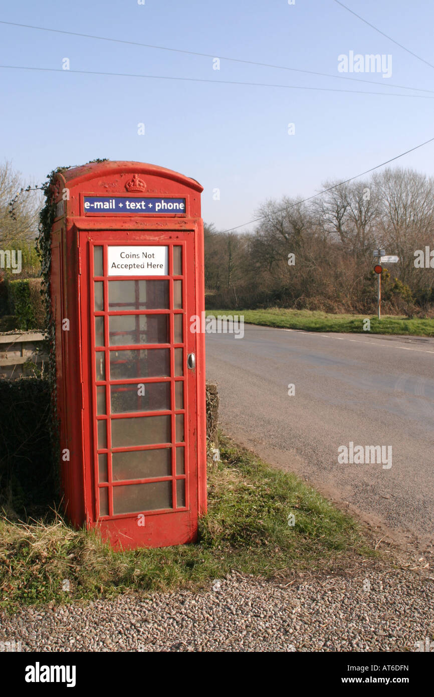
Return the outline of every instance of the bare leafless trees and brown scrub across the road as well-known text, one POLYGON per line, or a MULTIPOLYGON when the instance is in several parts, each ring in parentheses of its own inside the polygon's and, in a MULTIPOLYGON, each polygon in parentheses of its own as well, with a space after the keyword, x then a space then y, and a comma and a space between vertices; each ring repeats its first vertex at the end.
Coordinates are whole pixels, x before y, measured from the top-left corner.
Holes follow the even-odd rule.
POLYGON ((337 184, 311 201, 265 201, 246 233, 207 224, 207 307, 375 312, 373 250, 382 247, 399 256, 382 265, 385 312, 434 316, 434 259, 414 264, 417 250, 434 250, 434 178, 396 168, 337 184))

